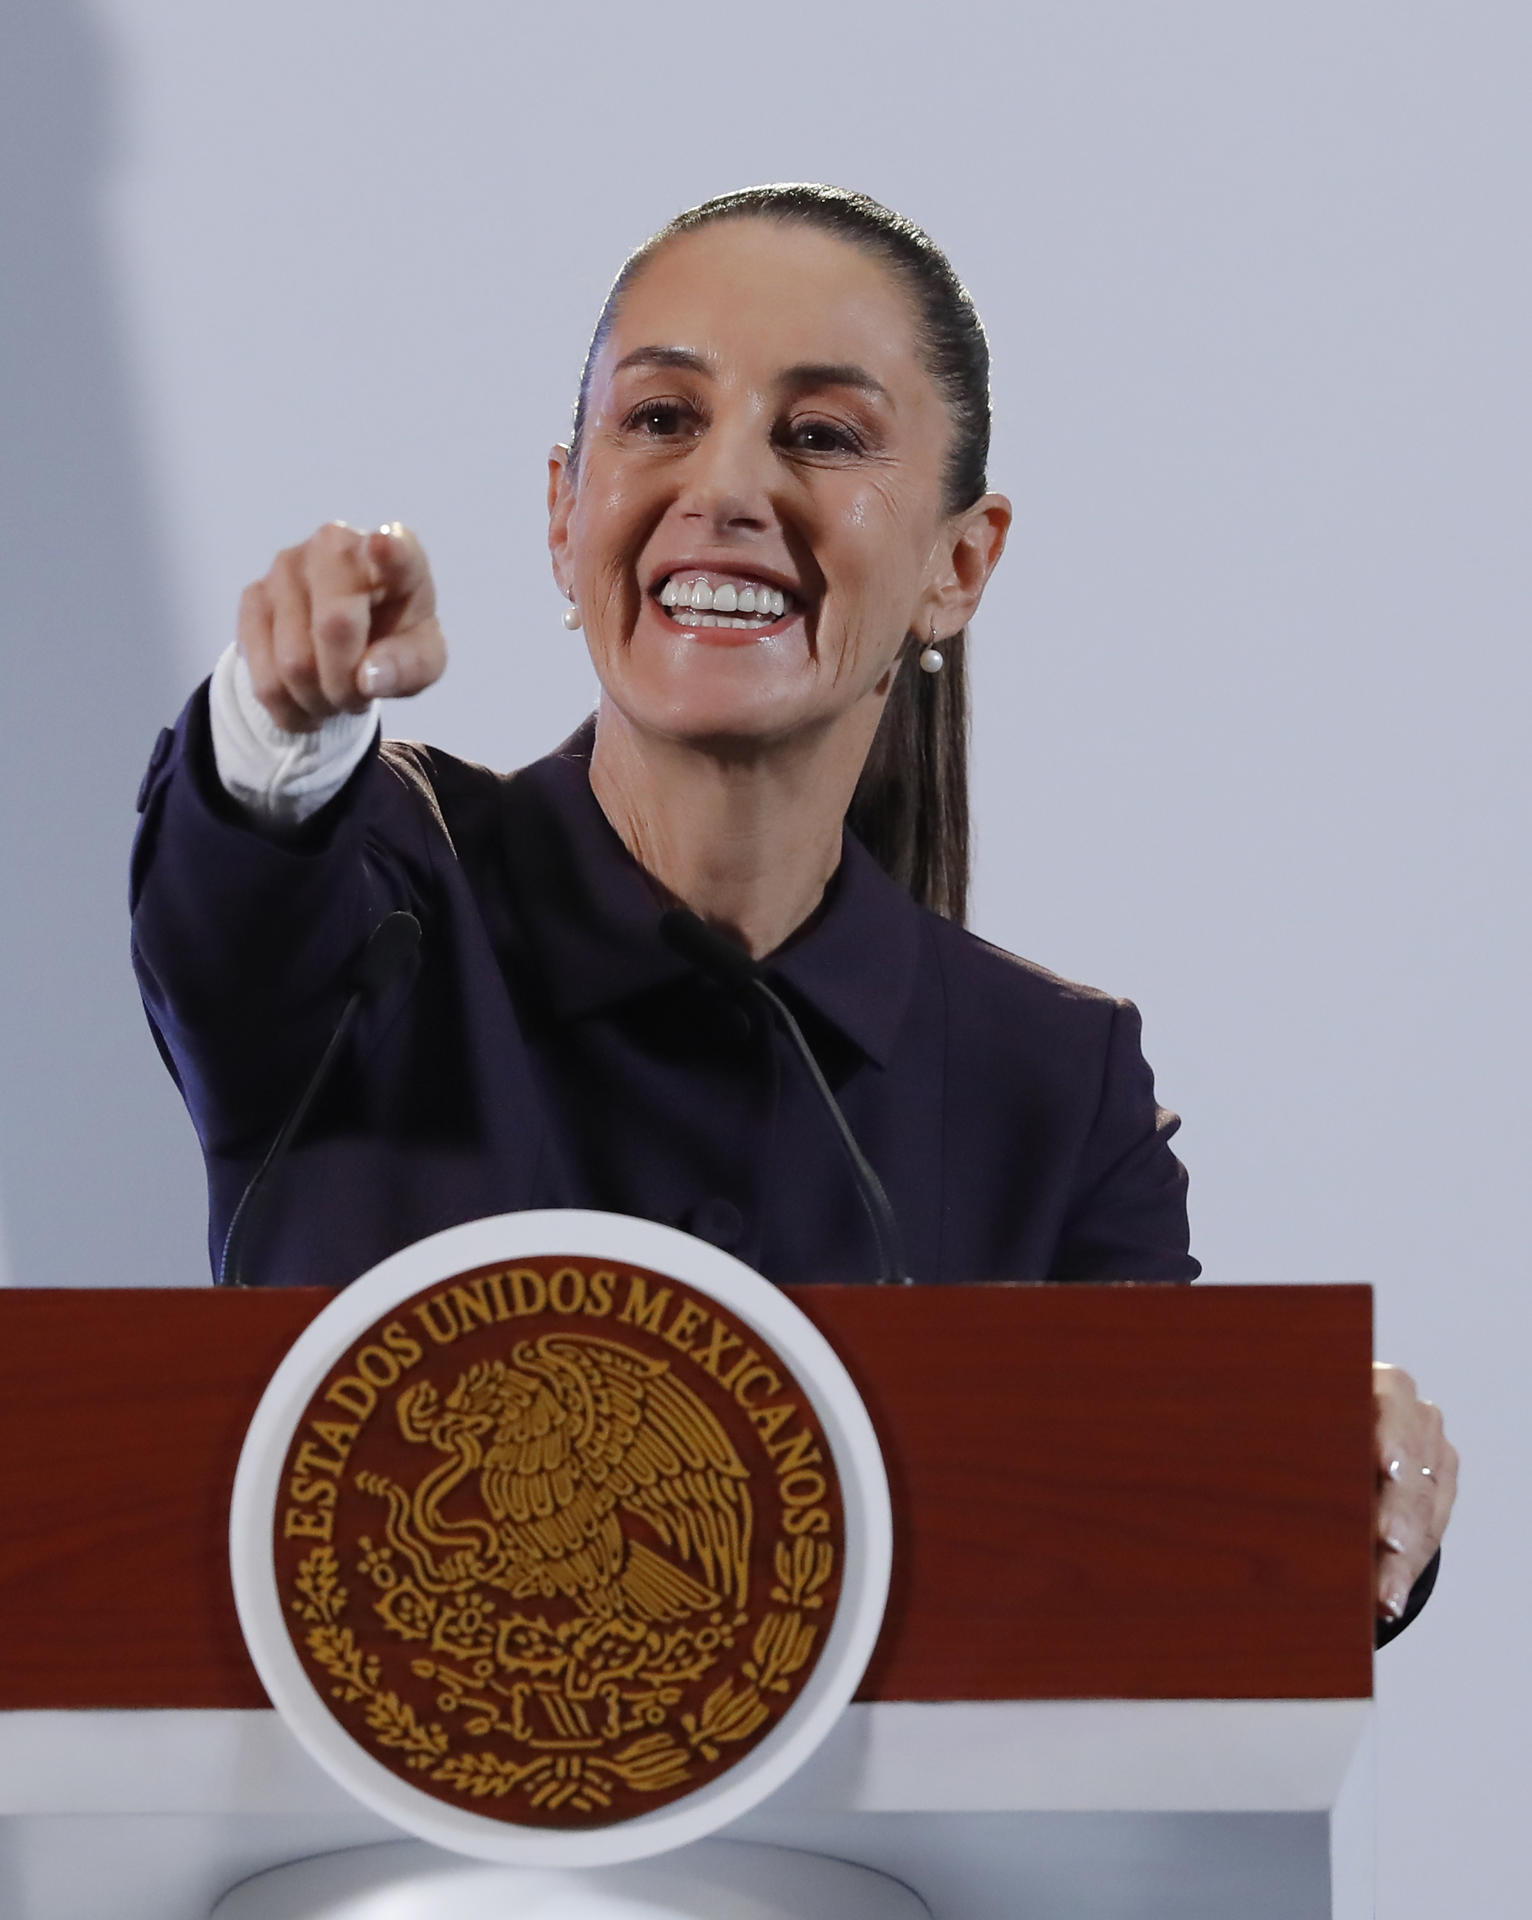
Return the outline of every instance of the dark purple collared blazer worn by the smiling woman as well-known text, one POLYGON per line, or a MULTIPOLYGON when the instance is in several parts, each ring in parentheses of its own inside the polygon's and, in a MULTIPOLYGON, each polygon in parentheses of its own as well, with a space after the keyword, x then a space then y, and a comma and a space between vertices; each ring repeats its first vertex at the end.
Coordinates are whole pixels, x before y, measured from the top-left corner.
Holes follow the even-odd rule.
MULTIPOLYGON (((392 908, 420 968, 363 1016, 246 1269, 338 1286, 457 1221, 580 1206, 683 1227, 774 1281, 875 1246, 776 1027, 660 939, 664 899, 591 795, 589 728, 491 774, 388 741, 315 820, 251 826, 200 689, 156 747, 132 862, 150 1021, 207 1160, 213 1261, 392 908)), ((770 962, 918 1281, 1188 1281, 1186 1175, 1125 1000, 916 906, 847 835, 770 962)))

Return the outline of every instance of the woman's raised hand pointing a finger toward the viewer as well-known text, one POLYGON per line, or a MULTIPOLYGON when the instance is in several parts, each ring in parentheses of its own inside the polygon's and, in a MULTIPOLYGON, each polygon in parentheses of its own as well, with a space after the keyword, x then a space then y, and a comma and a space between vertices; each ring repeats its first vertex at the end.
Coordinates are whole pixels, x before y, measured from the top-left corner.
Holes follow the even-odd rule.
POLYGON ((397 522, 359 534, 332 520, 286 547, 244 589, 240 653, 257 699, 288 733, 420 693, 447 666, 420 541, 397 522))

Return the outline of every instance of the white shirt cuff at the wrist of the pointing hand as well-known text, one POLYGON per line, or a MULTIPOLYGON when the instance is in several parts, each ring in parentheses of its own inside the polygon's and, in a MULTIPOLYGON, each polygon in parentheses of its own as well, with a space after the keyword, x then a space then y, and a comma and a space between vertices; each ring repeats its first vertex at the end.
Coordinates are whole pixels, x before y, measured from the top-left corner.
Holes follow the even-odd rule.
POLYGON ((257 820, 299 826, 332 801, 378 732, 378 703, 361 714, 332 714, 313 733, 288 733, 255 697, 250 668, 230 645, 207 687, 213 762, 225 793, 257 820))

